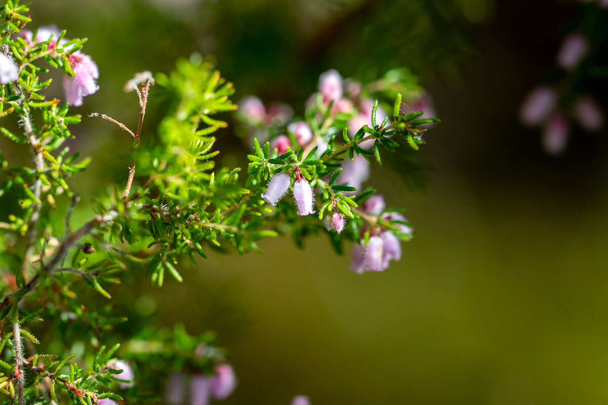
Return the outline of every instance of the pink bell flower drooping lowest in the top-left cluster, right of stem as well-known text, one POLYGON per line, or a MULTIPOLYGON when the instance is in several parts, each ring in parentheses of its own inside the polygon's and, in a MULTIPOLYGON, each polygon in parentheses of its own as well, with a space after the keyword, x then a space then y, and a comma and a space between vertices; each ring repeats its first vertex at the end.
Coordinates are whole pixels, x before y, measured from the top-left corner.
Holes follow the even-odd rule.
POLYGON ((63 88, 67 102, 78 107, 82 105, 84 96, 93 94, 99 89, 95 81, 99 78, 99 70, 91 57, 84 53, 74 52, 68 58, 76 76, 66 75, 63 78, 63 88))

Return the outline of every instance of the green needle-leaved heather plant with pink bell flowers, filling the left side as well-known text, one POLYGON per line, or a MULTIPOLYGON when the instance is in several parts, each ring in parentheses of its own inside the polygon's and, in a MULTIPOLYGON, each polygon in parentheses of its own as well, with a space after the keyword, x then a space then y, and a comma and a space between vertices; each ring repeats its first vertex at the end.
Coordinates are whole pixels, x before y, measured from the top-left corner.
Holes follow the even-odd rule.
POLYGON ((72 214, 82 204, 72 177, 91 160, 65 146, 74 137, 70 126, 82 119, 70 107, 105 89, 84 53, 86 39, 68 39, 55 27, 30 30, 28 7, 9 0, 1 12, 0 132, 33 155, 29 165, 0 153, 0 196, 15 202, 0 222, 2 403, 157 403, 161 381, 170 404, 206 404, 232 393, 237 379, 212 332, 193 336, 177 324, 112 334, 127 319, 103 302, 126 271, 145 271, 160 287, 167 276, 183 280, 184 260, 196 264, 212 249, 261 253, 259 240, 282 234, 300 246, 325 234, 339 253, 352 242, 358 273, 385 270, 401 257, 401 242, 412 237, 409 222, 361 186, 370 165, 382 165, 387 151, 418 150, 438 122, 414 108, 430 107, 429 98, 407 70, 372 83, 325 72, 296 120, 297 109, 244 98, 238 128, 251 145, 246 171, 216 167, 216 134, 227 127, 218 115, 237 104, 233 84, 212 62, 192 55, 168 75, 137 73, 124 90, 136 95, 139 117, 88 114, 108 121, 100 128, 117 125, 131 137, 133 161, 125 162, 124 182, 107 195, 100 188, 89 219, 76 223, 72 214), (46 95, 50 69, 64 72, 64 100, 46 95), (146 137, 154 97, 164 116, 156 135, 146 137), (10 120, 21 132, 9 129, 10 120))

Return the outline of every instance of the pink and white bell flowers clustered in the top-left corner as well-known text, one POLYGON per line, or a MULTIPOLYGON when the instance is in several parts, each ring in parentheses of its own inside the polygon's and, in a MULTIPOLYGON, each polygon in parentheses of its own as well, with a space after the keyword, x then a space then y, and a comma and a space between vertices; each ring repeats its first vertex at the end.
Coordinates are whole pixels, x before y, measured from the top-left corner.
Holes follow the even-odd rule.
MULTIPOLYGON (((33 36, 32 31, 22 30, 19 36, 26 41, 30 47, 36 44, 49 41, 47 49, 51 52, 57 49, 57 41, 53 38, 60 37, 60 31, 55 26, 40 27, 33 36)), ((60 45, 67 43, 67 39, 61 39, 60 45)), ((64 50, 69 51, 71 46, 67 46, 64 50)), ((7 84, 15 81, 19 77, 19 67, 12 60, 12 55, 0 53, 0 83, 7 84)), ((57 56, 57 55, 51 55, 57 56)), ((77 50, 76 52, 67 55, 70 66, 74 71, 75 76, 65 75, 63 78, 63 88, 66 92, 66 101, 72 106, 81 106, 82 98, 86 95, 93 94, 99 89, 97 79, 99 78, 99 70, 97 65, 91 59, 91 56, 77 50)))

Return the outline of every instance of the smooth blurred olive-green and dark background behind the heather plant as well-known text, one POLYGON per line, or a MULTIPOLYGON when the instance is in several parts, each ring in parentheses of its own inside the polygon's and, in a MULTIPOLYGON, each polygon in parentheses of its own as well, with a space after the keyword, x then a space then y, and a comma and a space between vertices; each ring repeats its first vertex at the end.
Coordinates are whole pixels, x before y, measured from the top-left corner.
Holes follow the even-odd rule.
MULTIPOLYGON (((329 68, 365 79, 407 66, 443 120, 422 149, 423 188, 412 189, 398 158, 388 160, 391 171, 374 169, 370 183, 390 206, 406 207, 416 229, 384 273, 354 274, 350 252, 335 256, 325 239, 302 251, 283 237, 261 243, 263 256, 210 254, 182 273, 183 284, 151 288, 131 274, 112 295, 130 302, 124 310, 140 321, 216 330, 240 380, 226 404, 288 404, 299 393, 314 405, 606 403, 606 132, 573 134, 568 152, 551 158, 538 132, 517 123, 577 7, 35 2, 36 25, 89 38, 100 90, 76 109, 82 114, 134 123, 136 99, 122 84, 141 70, 168 72, 196 51, 216 56, 235 100, 257 94, 291 103, 297 114, 329 68), (133 307, 134 296, 143 298, 133 307)), ((154 131, 161 108, 153 97, 142 136, 154 131)), ((83 196, 109 179, 124 182, 124 132, 86 118, 73 132, 72 144, 94 157, 75 185, 83 196)), ((230 130, 219 147, 224 162, 246 154, 230 130)), ((18 154, 5 153, 12 162, 18 154)))

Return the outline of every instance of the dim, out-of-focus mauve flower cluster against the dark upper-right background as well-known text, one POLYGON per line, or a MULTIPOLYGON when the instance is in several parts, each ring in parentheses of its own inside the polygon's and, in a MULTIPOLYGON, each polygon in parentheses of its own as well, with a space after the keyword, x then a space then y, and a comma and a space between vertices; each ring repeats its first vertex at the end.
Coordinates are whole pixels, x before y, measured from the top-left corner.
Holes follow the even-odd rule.
MULTIPOLYGON (((568 35, 558 52, 557 65, 566 71, 574 70, 588 51, 589 39, 586 36, 580 33, 568 35)), ((528 94, 520 111, 523 124, 544 126, 542 145, 552 155, 564 152, 570 134, 568 114, 558 106, 558 101, 558 90, 550 86, 538 86, 528 94)), ((569 115, 587 132, 597 132, 604 126, 604 113, 589 95, 577 97, 569 115)))

